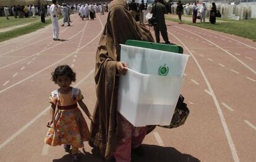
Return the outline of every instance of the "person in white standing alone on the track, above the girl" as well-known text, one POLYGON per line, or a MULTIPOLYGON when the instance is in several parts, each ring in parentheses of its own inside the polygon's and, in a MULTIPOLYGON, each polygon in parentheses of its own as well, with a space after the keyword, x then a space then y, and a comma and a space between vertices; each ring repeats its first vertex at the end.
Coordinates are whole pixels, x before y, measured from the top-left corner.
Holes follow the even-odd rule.
POLYGON ((51 22, 53 23, 53 40, 59 40, 59 23, 57 19, 57 1, 53 0, 53 4, 49 9, 49 13, 51 14, 51 22))

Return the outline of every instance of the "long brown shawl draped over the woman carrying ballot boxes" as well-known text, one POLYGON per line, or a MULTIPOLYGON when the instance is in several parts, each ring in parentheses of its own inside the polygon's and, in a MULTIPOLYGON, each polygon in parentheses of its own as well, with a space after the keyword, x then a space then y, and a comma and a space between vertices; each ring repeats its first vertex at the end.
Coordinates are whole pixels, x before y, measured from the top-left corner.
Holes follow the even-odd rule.
POLYGON ((126 1, 114 0, 109 4, 108 20, 96 53, 95 82, 97 102, 91 125, 91 147, 99 148, 106 159, 116 143, 122 139, 117 120, 118 77, 116 63, 120 60, 120 44, 126 40, 153 41, 150 31, 135 22, 127 10, 126 1))

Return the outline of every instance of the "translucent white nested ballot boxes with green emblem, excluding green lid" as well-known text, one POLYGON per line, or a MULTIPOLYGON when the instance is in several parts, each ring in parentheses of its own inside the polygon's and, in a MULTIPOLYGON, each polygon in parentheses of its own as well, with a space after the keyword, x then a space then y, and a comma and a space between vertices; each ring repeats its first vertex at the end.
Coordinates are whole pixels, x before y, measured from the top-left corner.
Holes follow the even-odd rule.
POLYGON ((117 110, 136 127, 169 125, 184 83, 189 55, 121 45, 126 75, 119 75, 117 110))

